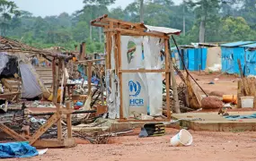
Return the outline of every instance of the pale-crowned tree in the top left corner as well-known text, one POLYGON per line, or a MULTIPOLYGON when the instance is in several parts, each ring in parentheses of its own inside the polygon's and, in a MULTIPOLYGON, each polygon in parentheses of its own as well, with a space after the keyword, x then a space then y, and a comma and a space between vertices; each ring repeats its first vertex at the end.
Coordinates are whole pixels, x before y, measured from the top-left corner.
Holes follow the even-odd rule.
POLYGON ((6 30, 10 27, 10 21, 13 16, 19 16, 21 13, 17 10, 17 5, 12 1, 0 0, 0 34, 6 35, 6 30))

